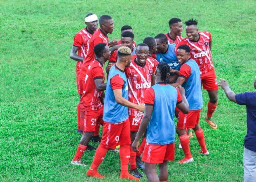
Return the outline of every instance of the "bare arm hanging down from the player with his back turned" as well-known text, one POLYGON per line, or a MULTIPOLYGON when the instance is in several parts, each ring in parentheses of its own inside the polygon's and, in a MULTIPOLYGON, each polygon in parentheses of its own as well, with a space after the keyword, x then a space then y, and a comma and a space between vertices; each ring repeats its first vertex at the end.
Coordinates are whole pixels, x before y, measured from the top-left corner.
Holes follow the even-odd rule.
POLYGON ((135 152, 139 152, 138 146, 139 146, 139 143, 140 143, 140 138, 144 134, 144 132, 146 131, 146 129, 148 127, 148 124, 150 122, 150 118, 151 118, 151 115, 152 115, 152 112, 153 112, 153 108, 154 108, 154 105, 146 105, 145 106, 144 116, 141 120, 140 127, 139 127, 139 130, 138 130, 137 134, 136 134, 134 142, 132 143, 132 149, 135 152))

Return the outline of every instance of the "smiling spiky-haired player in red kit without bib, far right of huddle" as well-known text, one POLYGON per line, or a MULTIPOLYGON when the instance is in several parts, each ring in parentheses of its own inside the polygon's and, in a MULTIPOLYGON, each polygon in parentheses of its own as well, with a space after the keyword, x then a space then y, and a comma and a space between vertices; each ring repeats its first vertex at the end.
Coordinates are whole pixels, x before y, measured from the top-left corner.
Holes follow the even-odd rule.
POLYGON ((188 37, 176 45, 175 51, 177 51, 178 46, 183 44, 186 44, 190 47, 190 56, 199 65, 201 84, 203 85, 203 89, 207 90, 210 99, 208 101, 208 109, 205 121, 210 125, 212 129, 216 129, 217 125, 212 120, 212 115, 217 107, 218 83, 212 62, 211 33, 208 31, 198 32, 196 20, 188 20, 185 22, 185 24, 186 35, 188 37))

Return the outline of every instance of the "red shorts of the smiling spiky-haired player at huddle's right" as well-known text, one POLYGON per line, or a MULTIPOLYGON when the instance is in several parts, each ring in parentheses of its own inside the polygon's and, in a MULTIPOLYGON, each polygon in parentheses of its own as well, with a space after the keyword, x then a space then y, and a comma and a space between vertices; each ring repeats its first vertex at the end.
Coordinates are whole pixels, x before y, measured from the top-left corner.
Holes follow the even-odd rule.
POLYGON ((201 85, 203 85, 204 90, 218 90, 218 81, 214 69, 205 74, 201 74, 201 85))

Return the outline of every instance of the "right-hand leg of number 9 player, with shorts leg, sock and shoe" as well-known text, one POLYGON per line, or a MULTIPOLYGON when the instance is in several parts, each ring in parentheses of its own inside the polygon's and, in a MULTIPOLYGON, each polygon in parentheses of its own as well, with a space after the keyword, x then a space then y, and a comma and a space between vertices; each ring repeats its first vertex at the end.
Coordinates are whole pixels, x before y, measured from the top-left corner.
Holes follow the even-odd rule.
POLYGON ((130 159, 130 144, 131 144, 131 136, 130 136, 130 122, 129 119, 127 119, 125 122, 120 124, 120 137, 115 138, 115 141, 117 145, 120 145, 119 149, 119 155, 121 160, 121 175, 120 178, 124 179, 130 179, 130 180, 139 180, 139 178, 136 178, 129 174, 128 172, 128 163, 130 159))

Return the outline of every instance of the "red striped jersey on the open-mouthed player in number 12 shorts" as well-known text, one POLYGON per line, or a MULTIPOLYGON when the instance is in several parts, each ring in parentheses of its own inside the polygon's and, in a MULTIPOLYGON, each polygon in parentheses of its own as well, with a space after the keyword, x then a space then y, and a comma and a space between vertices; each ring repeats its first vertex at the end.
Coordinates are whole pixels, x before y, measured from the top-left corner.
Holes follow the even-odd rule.
MULTIPOLYGON (((125 74, 128 81, 129 101, 135 104, 144 103, 145 90, 151 87, 151 77, 155 73, 158 61, 148 57, 144 66, 136 62, 136 55, 133 55, 129 67, 125 68, 125 74)), ((128 108, 130 116, 136 116, 139 112, 137 109, 128 108)))

